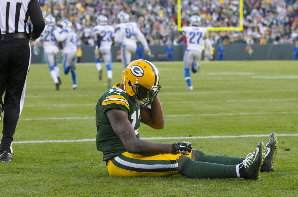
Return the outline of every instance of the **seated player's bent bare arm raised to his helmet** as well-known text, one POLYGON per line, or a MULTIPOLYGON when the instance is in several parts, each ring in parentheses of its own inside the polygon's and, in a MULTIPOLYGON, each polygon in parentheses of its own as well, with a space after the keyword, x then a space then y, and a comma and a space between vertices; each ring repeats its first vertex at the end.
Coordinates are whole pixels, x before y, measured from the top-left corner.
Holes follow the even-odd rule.
POLYGON ((141 107, 141 122, 154 129, 164 128, 164 111, 158 96, 151 103, 151 108, 141 107))

